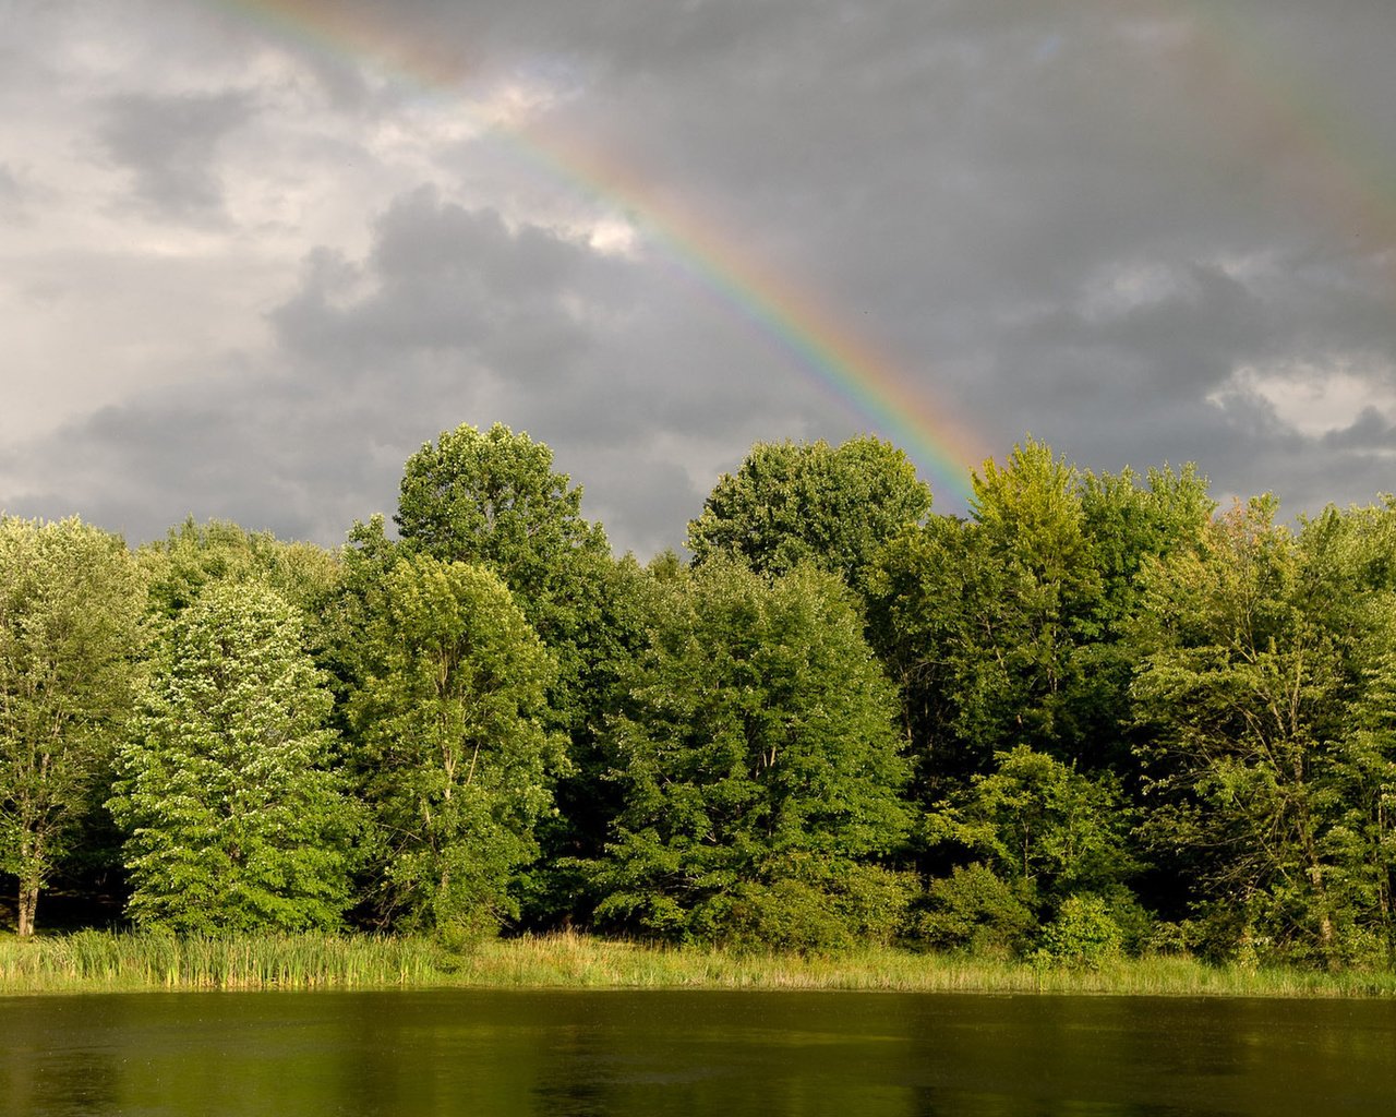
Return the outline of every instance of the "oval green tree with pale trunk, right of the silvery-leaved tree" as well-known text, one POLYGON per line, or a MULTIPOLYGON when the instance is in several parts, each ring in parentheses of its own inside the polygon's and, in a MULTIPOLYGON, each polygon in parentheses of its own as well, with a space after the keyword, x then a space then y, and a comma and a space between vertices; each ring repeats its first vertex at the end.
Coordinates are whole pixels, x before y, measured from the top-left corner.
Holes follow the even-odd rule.
POLYGON ((402 558, 369 599, 350 698, 385 923, 480 933, 518 913, 512 874, 565 765, 542 716, 556 666, 491 571, 402 558))

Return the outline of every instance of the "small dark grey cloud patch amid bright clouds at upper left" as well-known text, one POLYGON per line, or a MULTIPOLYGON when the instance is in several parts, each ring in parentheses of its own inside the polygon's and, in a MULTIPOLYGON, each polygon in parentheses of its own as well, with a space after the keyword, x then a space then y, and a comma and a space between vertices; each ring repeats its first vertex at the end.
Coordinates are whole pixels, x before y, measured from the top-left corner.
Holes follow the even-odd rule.
POLYGON ((131 172, 131 194, 147 211, 166 219, 216 216, 223 205, 218 147, 251 113, 237 92, 121 94, 107 102, 98 142, 131 172))

